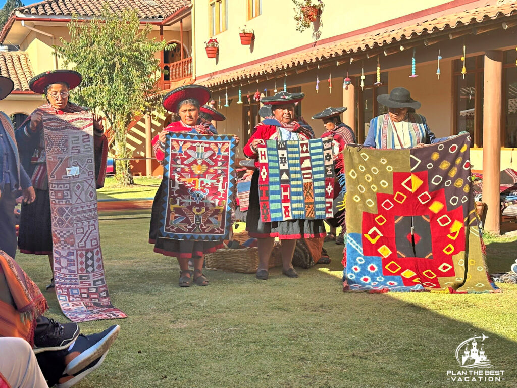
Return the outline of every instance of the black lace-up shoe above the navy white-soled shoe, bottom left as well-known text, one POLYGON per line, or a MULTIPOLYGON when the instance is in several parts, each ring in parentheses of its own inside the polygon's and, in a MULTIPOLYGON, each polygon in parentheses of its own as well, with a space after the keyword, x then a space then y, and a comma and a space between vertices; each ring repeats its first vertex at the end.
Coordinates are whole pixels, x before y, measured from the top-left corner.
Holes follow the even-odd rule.
POLYGON ((79 336, 80 330, 77 323, 61 324, 46 317, 42 317, 40 321, 34 333, 35 354, 66 349, 79 336))

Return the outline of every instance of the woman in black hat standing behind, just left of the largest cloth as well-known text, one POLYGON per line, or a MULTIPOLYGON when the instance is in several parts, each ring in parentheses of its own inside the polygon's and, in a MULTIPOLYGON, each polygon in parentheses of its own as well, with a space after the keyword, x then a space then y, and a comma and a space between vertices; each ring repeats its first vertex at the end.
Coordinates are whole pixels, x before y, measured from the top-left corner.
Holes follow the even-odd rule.
MULTIPOLYGON (((344 176, 343 154, 341 154, 341 152, 344 150, 347 144, 356 143, 354 131, 346 124, 343 124, 339 116, 341 113, 346 111, 346 109, 346 107, 329 107, 312 116, 313 120, 323 120, 325 132, 323 132, 322 138, 332 138, 334 168, 336 169, 337 178, 336 186, 334 186, 334 195, 336 196, 338 196, 338 194, 342 191, 341 186, 339 185, 339 178, 344 176)), ((336 244, 343 244, 343 236, 346 233, 346 226, 344 225, 344 211, 340 211, 337 214, 334 214, 334 218, 327 220, 327 223, 330 225, 330 231, 325 237, 325 241, 335 240, 336 244), (343 228, 340 235, 336 236, 336 227, 341 223, 343 224, 343 228)))

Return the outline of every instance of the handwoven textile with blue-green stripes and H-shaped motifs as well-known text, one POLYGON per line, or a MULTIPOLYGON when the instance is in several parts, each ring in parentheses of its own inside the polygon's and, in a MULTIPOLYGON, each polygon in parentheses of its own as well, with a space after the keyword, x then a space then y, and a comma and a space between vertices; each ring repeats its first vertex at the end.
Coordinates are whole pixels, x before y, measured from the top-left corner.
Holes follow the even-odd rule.
POLYGON ((332 217, 332 140, 266 140, 258 146, 262 222, 332 217))

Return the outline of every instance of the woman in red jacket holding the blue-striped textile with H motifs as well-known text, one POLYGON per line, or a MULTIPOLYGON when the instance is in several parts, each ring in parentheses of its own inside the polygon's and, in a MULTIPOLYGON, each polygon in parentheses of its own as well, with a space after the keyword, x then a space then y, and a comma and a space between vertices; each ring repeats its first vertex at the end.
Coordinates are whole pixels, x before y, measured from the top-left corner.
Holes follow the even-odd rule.
MULTIPOLYGON (((264 140, 307 140, 313 138, 311 131, 294 120, 295 102, 301 101, 303 93, 279 92, 272 97, 263 97, 261 102, 271 106, 272 115, 255 127, 244 153, 255 159, 258 167, 258 145, 264 140)), ((301 237, 325 237, 323 220, 288 220, 262 222, 258 199, 258 170, 253 173, 250 190, 250 206, 246 217, 246 230, 251 237, 258 239, 257 279, 267 280, 269 277, 269 257, 273 249, 275 237, 282 241, 282 273, 291 278, 298 277, 292 260, 296 240, 301 237)))

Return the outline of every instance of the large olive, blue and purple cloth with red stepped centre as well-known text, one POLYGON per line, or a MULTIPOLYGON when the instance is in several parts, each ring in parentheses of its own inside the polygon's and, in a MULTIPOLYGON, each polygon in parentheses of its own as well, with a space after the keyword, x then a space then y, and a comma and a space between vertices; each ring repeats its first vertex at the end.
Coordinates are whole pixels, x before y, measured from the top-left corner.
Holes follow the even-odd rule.
POLYGON ((494 292, 468 135, 402 150, 348 146, 345 290, 494 292))

